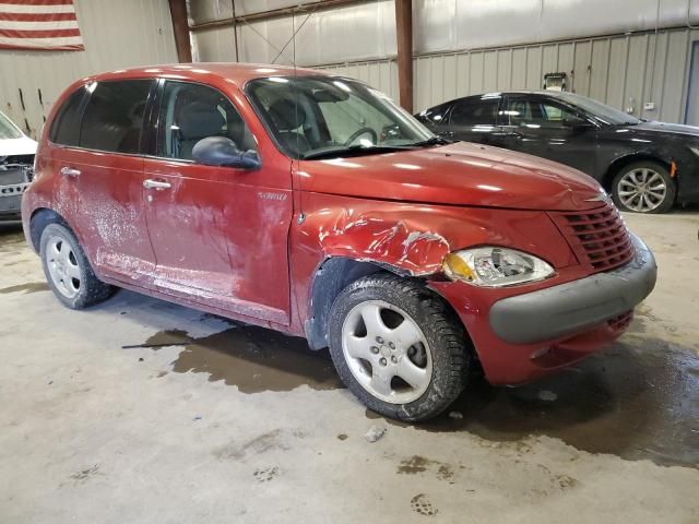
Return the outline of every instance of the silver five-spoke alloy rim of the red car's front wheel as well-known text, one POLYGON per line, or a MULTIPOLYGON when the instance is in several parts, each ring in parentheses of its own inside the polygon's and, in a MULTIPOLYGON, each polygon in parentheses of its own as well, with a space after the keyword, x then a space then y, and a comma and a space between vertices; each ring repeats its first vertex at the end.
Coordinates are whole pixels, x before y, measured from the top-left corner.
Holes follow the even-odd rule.
POLYGON ((347 313, 342 349, 357 382, 384 402, 416 401, 431 381, 425 334, 405 311, 382 300, 364 301, 347 313))

